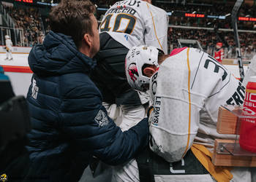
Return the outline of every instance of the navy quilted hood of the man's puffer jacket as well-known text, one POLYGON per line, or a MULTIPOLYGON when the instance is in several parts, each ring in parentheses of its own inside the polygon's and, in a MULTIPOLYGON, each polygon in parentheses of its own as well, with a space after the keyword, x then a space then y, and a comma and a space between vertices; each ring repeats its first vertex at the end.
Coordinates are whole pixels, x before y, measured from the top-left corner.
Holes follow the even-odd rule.
POLYGON ((53 76, 88 73, 96 66, 96 61, 79 52, 71 36, 50 31, 43 44, 37 44, 31 49, 29 66, 38 76, 53 76))

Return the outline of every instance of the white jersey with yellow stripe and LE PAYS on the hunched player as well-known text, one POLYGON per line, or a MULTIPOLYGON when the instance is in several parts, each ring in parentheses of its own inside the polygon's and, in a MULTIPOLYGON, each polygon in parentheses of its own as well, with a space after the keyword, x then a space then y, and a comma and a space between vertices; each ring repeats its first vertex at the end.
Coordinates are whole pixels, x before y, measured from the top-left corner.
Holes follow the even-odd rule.
POLYGON ((151 76, 149 90, 154 103, 150 147, 167 162, 181 160, 193 142, 211 151, 215 138, 234 138, 217 133, 218 109, 242 104, 245 92, 241 82, 207 53, 180 50, 151 76))

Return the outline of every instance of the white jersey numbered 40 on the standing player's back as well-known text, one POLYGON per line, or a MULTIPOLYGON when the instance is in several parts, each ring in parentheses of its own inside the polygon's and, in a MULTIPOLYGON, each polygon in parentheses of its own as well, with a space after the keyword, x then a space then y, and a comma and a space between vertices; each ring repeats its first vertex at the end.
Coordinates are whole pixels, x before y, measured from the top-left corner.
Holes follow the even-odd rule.
POLYGON ((128 49, 147 44, 167 54, 167 24, 167 12, 159 7, 140 0, 118 1, 105 13, 99 33, 108 32, 128 49))

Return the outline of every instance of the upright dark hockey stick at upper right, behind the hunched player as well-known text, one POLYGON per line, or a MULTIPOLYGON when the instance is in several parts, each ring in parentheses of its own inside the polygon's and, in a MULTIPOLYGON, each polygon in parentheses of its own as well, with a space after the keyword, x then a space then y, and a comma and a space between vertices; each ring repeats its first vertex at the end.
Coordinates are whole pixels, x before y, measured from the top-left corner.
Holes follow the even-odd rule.
POLYGON ((238 11, 241 7, 241 4, 243 4, 243 2, 244 2, 244 0, 237 0, 235 6, 232 9, 232 13, 231 13, 232 26, 233 26, 234 36, 235 36, 235 40, 236 40, 236 55, 237 55, 237 59, 238 59, 238 66, 239 66, 241 82, 243 82, 243 79, 244 79, 244 68, 243 68, 243 62, 242 62, 241 50, 240 50, 240 42, 239 42, 239 36, 238 36, 237 18, 238 18, 238 11))

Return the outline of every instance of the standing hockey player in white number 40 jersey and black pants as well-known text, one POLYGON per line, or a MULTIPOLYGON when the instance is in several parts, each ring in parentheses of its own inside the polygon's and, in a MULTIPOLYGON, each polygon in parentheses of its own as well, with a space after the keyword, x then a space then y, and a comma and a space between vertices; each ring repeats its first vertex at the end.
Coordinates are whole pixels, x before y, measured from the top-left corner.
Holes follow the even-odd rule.
POLYGON ((113 4, 99 25, 100 50, 91 79, 102 92, 105 107, 111 106, 110 116, 115 120, 120 115, 122 130, 143 119, 143 104, 148 102, 129 87, 124 72, 125 56, 133 46, 142 44, 167 53, 167 20, 167 12, 149 0, 126 0, 113 4))

